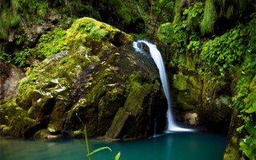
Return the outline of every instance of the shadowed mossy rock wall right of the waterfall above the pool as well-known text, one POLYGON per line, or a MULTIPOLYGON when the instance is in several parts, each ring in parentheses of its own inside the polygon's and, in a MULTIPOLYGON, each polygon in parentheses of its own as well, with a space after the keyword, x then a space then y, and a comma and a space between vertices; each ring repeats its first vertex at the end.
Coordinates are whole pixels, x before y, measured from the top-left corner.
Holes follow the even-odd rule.
POLYGON ((228 106, 231 102, 229 86, 212 84, 207 78, 200 77, 196 70, 191 70, 190 66, 183 67, 172 77, 173 106, 181 114, 177 116, 178 121, 226 134, 232 113, 228 106), (196 117, 193 115, 194 118, 191 118, 191 112, 197 114, 196 117), (191 122, 192 119, 195 122, 191 122))

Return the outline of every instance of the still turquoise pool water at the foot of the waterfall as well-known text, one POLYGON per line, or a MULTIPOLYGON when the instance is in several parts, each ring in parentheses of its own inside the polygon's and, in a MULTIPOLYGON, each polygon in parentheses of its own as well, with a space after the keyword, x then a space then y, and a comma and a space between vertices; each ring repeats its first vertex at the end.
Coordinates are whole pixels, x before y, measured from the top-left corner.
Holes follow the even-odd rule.
MULTIPOLYGON (((226 137, 208 133, 171 133, 157 138, 102 142, 90 139, 91 150, 110 146, 94 154, 94 160, 114 160, 121 152, 120 160, 221 160, 226 137)), ((83 139, 24 140, 1 138, 3 160, 78 160, 86 159, 86 142, 83 139)))

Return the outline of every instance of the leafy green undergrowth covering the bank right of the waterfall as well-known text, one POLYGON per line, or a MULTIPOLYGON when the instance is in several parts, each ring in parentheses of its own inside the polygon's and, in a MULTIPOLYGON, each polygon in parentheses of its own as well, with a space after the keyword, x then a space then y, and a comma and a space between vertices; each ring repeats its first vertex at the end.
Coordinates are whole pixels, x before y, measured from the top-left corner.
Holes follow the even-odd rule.
MULTIPOLYGON (((208 14, 206 10, 204 11, 208 14)), ((239 150, 246 157, 254 159, 256 148, 256 33, 254 29, 256 14, 250 16, 252 20, 249 23, 239 23, 227 30, 225 34, 208 38, 202 34, 213 33, 214 26, 207 26, 202 30, 205 21, 203 19, 201 26, 197 27, 198 17, 203 15, 202 3, 194 3, 182 14, 177 14, 177 19, 173 23, 163 24, 158 30, 158 38, 170 45, 173 53, 171 66, 178 66, 179 70, 184 70, 185 67, 186 72, 195 68, 196 73, 202 78, 207 78, 212 86, 215 84, 230 85, 230 93, 233 93, 233 96, 222 97, 220 100, 238 111, 237 118, 240 119, 238 122, 241 122, 236 125, 239 150), (189 57, 193 59, 192 65, 188 60, 189 57)), ((211 99, 209 97, 209 100, 211 99)))

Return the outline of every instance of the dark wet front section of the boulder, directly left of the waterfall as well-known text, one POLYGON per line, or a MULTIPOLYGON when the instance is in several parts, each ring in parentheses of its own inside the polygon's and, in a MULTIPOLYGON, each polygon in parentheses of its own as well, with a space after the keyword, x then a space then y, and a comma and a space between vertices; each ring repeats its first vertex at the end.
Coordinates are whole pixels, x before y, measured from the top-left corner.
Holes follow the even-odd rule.
POLYGON ((103 57, 94 66, 89 66, 93 68, 90 74, 88 68, 84 68, 74 85, 74 97, 78 99, 74 100, 69 113, 72 130, 82 127, 78 117, 86 123, 89 135, 97 132, 111 138, 144 137, 152 134, 154 118, 161 121, 159 130, 163 130, 166 108, 157 107, 158 102, 162 103, 163 99, 158 99, 162 92, 158 70, 146 66, 150 65, 150 59, 134 54, 130 46, 103 57), (145 64, 142 61, 146 61, 145 64), (79 87, 83 90, 77 89, 79 87))

